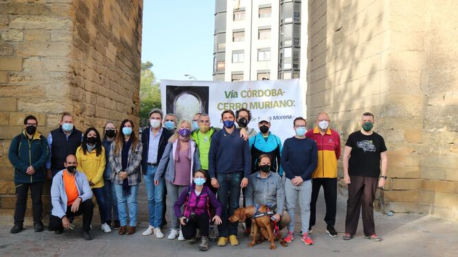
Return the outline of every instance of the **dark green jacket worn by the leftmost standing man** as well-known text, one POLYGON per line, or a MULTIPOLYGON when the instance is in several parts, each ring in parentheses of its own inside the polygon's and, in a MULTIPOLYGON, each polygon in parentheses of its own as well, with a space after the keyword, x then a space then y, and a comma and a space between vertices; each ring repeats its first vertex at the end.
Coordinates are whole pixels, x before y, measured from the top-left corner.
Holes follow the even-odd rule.
POLYGON ((8 158, 14 167, 14 182, 33 183, 45 180, 45 164, 49 158, 49 145, 45 136, 35 132, 32 140, 27 138, 25 130, 11 141, 8 158), (32 166, 33 175, 25 173, 32 166))

